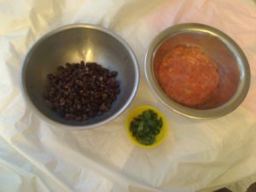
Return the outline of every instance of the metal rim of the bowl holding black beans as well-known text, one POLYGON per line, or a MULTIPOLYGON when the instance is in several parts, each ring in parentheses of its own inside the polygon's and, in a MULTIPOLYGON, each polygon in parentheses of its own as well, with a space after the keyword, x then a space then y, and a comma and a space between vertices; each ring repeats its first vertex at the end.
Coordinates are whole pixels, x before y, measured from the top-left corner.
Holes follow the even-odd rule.
POLYGON ((137 57, 134 54, 133 50, 131 49, 131 46, 125 42, 125 40, 121 37, 119 37, 118 34, 110 31, 109 29, 102 27, 102 26, 96 26, 96 25, 91 25, 91 24, 71 24, 71 25, 67 25, 67 26, 61 26, 58 28, 55 28, 54 30, 45 33, 43 36, 41 36, 40 38, 38 38, 32 45, 31 47, 28 49, 26 56, 24 57, 23 61, 21 62, 21 67, 20 67, 20 90, 21 90, 21 94, 24 96, 26 102, 28 103, 29 107, 34 109, 33 111, 35 111, 38 116, 42 119, 44 119, 44 121, 46 121, 47 123, 49 123, 50 125, 55 125, 56 127, 63 127, 66 128, 68 130, 87 130, 87 129, 92 129, 92 128, 96 128, 100 125, 104 125, 107 124, 108 122, 110 122, 111 120, 117 118, 121 113, 123 113, 125 111, 126 108, 128 108, 128 106, 131 104, 131 101, 133 100, 134 96, 136 96, 137 93, 137 89, 138 89, 138 85, 139 85, 139 67, 138 67, 138 63, 137 63, 137 57), (33 49, 35 49, 36 47, 38 47, 38 45, 40 45, 42 42, 44 42, 45 39, 59 33, 59 32, 63 32, 69 29, 74 29, 74 28, 89 28, 89 29, 94 29, 100 32, 105 32, 108 35, 112 36, 114 39, 118 40, 120 42, 120 44, 122 44, 125 49, 129 52, 129 54, 131 55, 131 59, 133 61, 133 66, 135 68, 135 83, 133 84, 133 89, 131 92, 131 96, 129 97, 129 99, 125 102, 125 105, 120 108, 116 113, 113 113, 113 115, 111 115, 108 119, 104 119, 99 123, 96 124, 92 124, 92 125, 66 125, 66 124, 62 124, 60 122, 57 122, 53 119, 50 119, 49 117, 47 117, 44 113, 41 113, 41 111, 36 108, 34 106, 34 104, 32 103, 32 100, 30 99, 30 97, 28 96, 27 90, 26 90, 26 86, 25 86, 25 72, 26 72, 26 66, 27 66, 27 61, 29 61, 30 56, 32 55, 32 51, 33 49))

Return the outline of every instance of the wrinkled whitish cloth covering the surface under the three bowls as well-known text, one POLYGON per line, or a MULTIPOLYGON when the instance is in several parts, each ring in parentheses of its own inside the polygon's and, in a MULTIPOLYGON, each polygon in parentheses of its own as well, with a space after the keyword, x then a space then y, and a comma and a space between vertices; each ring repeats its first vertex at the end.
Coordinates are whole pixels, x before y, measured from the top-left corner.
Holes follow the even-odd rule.
POLYGON ((253 0, 0 0, 1 192, 246 191, 256 181, 256 3, 253 0), (217 27, 241 46, 250 63, 249 93, 234 112, 195 120, 165 108, 148 89, 148 44, 168 26, 217 27), (27 107, 19 70, 32 44, 56 27, 104 26, 131 45, 141 82, 131 106, 93 130, 49 125, 27 107), (125 119, 138 105, 166 114, 169 135, 158 148, 134 146, 125 119))

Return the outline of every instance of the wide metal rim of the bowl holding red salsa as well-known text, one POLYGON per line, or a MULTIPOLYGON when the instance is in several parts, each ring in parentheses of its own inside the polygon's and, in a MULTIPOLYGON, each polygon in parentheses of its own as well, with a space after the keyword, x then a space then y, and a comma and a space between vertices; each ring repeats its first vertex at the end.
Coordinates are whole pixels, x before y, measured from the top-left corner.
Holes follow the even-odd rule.
POLYGON ((160 32, 153 41, 149 44, 148 51, 145 56, 144 61, 144 73, 148 82, 150 90, 154 93, 154 96, 157 97, 160 102, 162 102, 167 108, 171 108, 172 111, 182 114, 183 116, 194 118, 194 119, 212 119, 224 116, 227 113, 235 110, 244 98, 247 96, 247 92, 250 86, 250 67, 246 58, 246 55, 243 53, 241 48, 236 42, 226 35, 224 32, 219 31, 218 29, 207 26, 199 23, 183 23, 175 26, 170 26, 166 30, 160 32), (218 108, 200 110, 184 107, 181 104, 178 104, 175 101, 172 101, 171 98, 166 96, 163 90, 160 89, 159 84, 157 84, 156 79, 154 78, 153 60, 154 55, 160 45, 167 39, 174 35, 184 33, 184 32, 195 32, 195 33, 205 33, 212 35, 222 41, 230 51, 236 56, 239 67, 241 68, 241 81, 238 84, 236 93, 230 98, 228 102, 225 102, 222 106, 218 108), (234 53, 235 52, 235 53, 234 53), (238 56, 237 56, 238 55, 238 56), (246 75, 245 75, 246 74, 246 75))

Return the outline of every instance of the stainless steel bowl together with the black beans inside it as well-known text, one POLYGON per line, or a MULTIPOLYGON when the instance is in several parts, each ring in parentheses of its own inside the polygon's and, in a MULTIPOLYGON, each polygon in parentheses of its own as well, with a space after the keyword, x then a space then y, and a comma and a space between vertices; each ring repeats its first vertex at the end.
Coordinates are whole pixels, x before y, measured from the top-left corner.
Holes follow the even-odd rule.
POLYGON ((125 111, 139 82, 137 59, 118 35, 70 25, 32 45, 20 70, 27 103, 47 122, 71 129, 108 123, 125 111))

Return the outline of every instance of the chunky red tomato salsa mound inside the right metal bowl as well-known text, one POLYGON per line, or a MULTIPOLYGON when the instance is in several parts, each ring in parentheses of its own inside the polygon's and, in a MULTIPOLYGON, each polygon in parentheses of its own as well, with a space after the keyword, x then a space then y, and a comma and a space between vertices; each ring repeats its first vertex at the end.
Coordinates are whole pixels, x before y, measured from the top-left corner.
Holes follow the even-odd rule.
POLYGON ((218 66, 200 48, 177 45, 155 67, 160 87, 176 102, 193 107, 218 89, 218 66))

